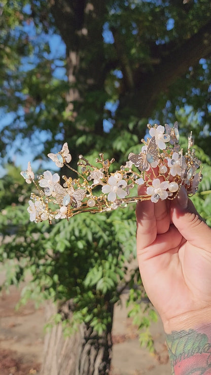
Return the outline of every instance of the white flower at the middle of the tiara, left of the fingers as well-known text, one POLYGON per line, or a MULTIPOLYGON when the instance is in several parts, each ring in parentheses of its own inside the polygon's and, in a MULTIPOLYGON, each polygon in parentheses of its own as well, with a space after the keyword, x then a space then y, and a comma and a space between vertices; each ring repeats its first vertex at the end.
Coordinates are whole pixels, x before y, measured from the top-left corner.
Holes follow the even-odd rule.
POLYGON ((114 202, 116 197, 125 198, 127 192, 125 192, 124 187, 127 186, 125 180, 120 179, 122 176, 120 173, 115 173, 113 176, 109 177, 108 184, 102 186, 102 193, 108 194, 108 200, 114 202))

